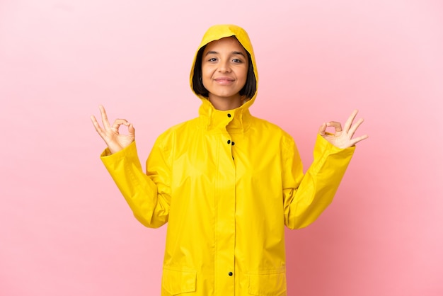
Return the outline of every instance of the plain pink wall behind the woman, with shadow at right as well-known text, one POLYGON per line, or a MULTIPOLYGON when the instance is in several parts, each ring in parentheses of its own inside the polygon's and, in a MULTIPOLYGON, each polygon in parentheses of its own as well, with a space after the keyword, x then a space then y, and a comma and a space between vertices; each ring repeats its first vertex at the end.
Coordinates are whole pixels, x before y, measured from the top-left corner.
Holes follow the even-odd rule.
POLYGON ((287 232, 289 295, 443 295, 442 1, 0 1, 0 295, 159 295, 166 227, 139 224, 91 114, 127 118, 146 159, 197 115, 209 25, 248 30, 253 114, 293 135, 366 122, 335 202, 287 232))

